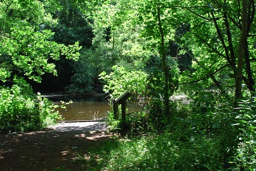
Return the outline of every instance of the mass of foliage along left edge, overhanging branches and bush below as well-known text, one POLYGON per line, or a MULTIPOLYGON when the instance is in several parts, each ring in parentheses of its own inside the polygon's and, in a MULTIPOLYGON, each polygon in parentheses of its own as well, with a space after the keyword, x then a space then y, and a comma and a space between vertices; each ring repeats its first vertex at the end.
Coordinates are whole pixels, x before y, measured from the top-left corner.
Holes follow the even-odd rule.
POLYGON ((33 94, 25 80, 40 83, 42 75, 57 76, 60 56, 77 60, 78 42, 52 40, 49 28, 58 21, 46 6, 53 1, 0 1, 0 131, 29 131, 60 119, 56 106, 33 94))

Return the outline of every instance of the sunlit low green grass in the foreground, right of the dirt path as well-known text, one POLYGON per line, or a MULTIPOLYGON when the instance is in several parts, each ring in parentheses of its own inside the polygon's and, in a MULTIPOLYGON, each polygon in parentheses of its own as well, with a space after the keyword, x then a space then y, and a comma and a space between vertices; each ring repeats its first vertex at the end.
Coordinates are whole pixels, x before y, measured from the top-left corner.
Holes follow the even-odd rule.
POLYGON ((73 162, 81 170, 224 170, 213 140, 177 141, 170 133, 111 138, 73 162))

